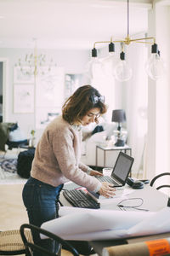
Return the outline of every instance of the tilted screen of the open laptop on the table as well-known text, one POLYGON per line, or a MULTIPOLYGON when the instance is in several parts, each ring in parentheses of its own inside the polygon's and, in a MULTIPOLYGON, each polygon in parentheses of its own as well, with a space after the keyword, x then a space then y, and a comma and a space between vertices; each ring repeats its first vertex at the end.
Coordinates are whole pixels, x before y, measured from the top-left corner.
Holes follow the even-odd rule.
POLYGON ((111 177, 116 178, 121 183, 125 183, 133 165, 133 160, 133 157, 130 155, 120 152, 116 159, 111 177))

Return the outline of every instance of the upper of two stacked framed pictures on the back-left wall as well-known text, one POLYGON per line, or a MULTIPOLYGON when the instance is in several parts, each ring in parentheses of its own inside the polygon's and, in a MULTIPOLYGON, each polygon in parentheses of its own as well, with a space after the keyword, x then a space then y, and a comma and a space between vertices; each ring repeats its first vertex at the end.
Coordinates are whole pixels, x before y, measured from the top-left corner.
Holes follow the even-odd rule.
POLYGON ((34 75, 30 73, 30 67, 14 67, 14 83, 34 83, 34 75))

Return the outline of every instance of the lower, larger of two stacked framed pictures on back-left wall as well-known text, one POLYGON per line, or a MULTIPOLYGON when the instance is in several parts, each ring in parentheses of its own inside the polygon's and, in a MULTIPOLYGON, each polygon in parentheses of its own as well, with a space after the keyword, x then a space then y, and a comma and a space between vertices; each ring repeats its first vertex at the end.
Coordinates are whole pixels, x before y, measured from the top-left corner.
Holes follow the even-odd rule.
POLYGON ((14 113, 34 113, 34 84, 14 84, 14 113))

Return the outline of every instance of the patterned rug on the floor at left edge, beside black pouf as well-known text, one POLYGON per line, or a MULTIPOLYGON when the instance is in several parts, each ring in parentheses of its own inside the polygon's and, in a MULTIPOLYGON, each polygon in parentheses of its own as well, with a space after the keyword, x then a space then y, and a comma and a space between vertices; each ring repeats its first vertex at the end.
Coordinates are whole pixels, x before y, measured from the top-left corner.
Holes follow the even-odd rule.
POLYGON ((0 184, 26 183, 17 173, 17 158, 0 158, 0 184))

